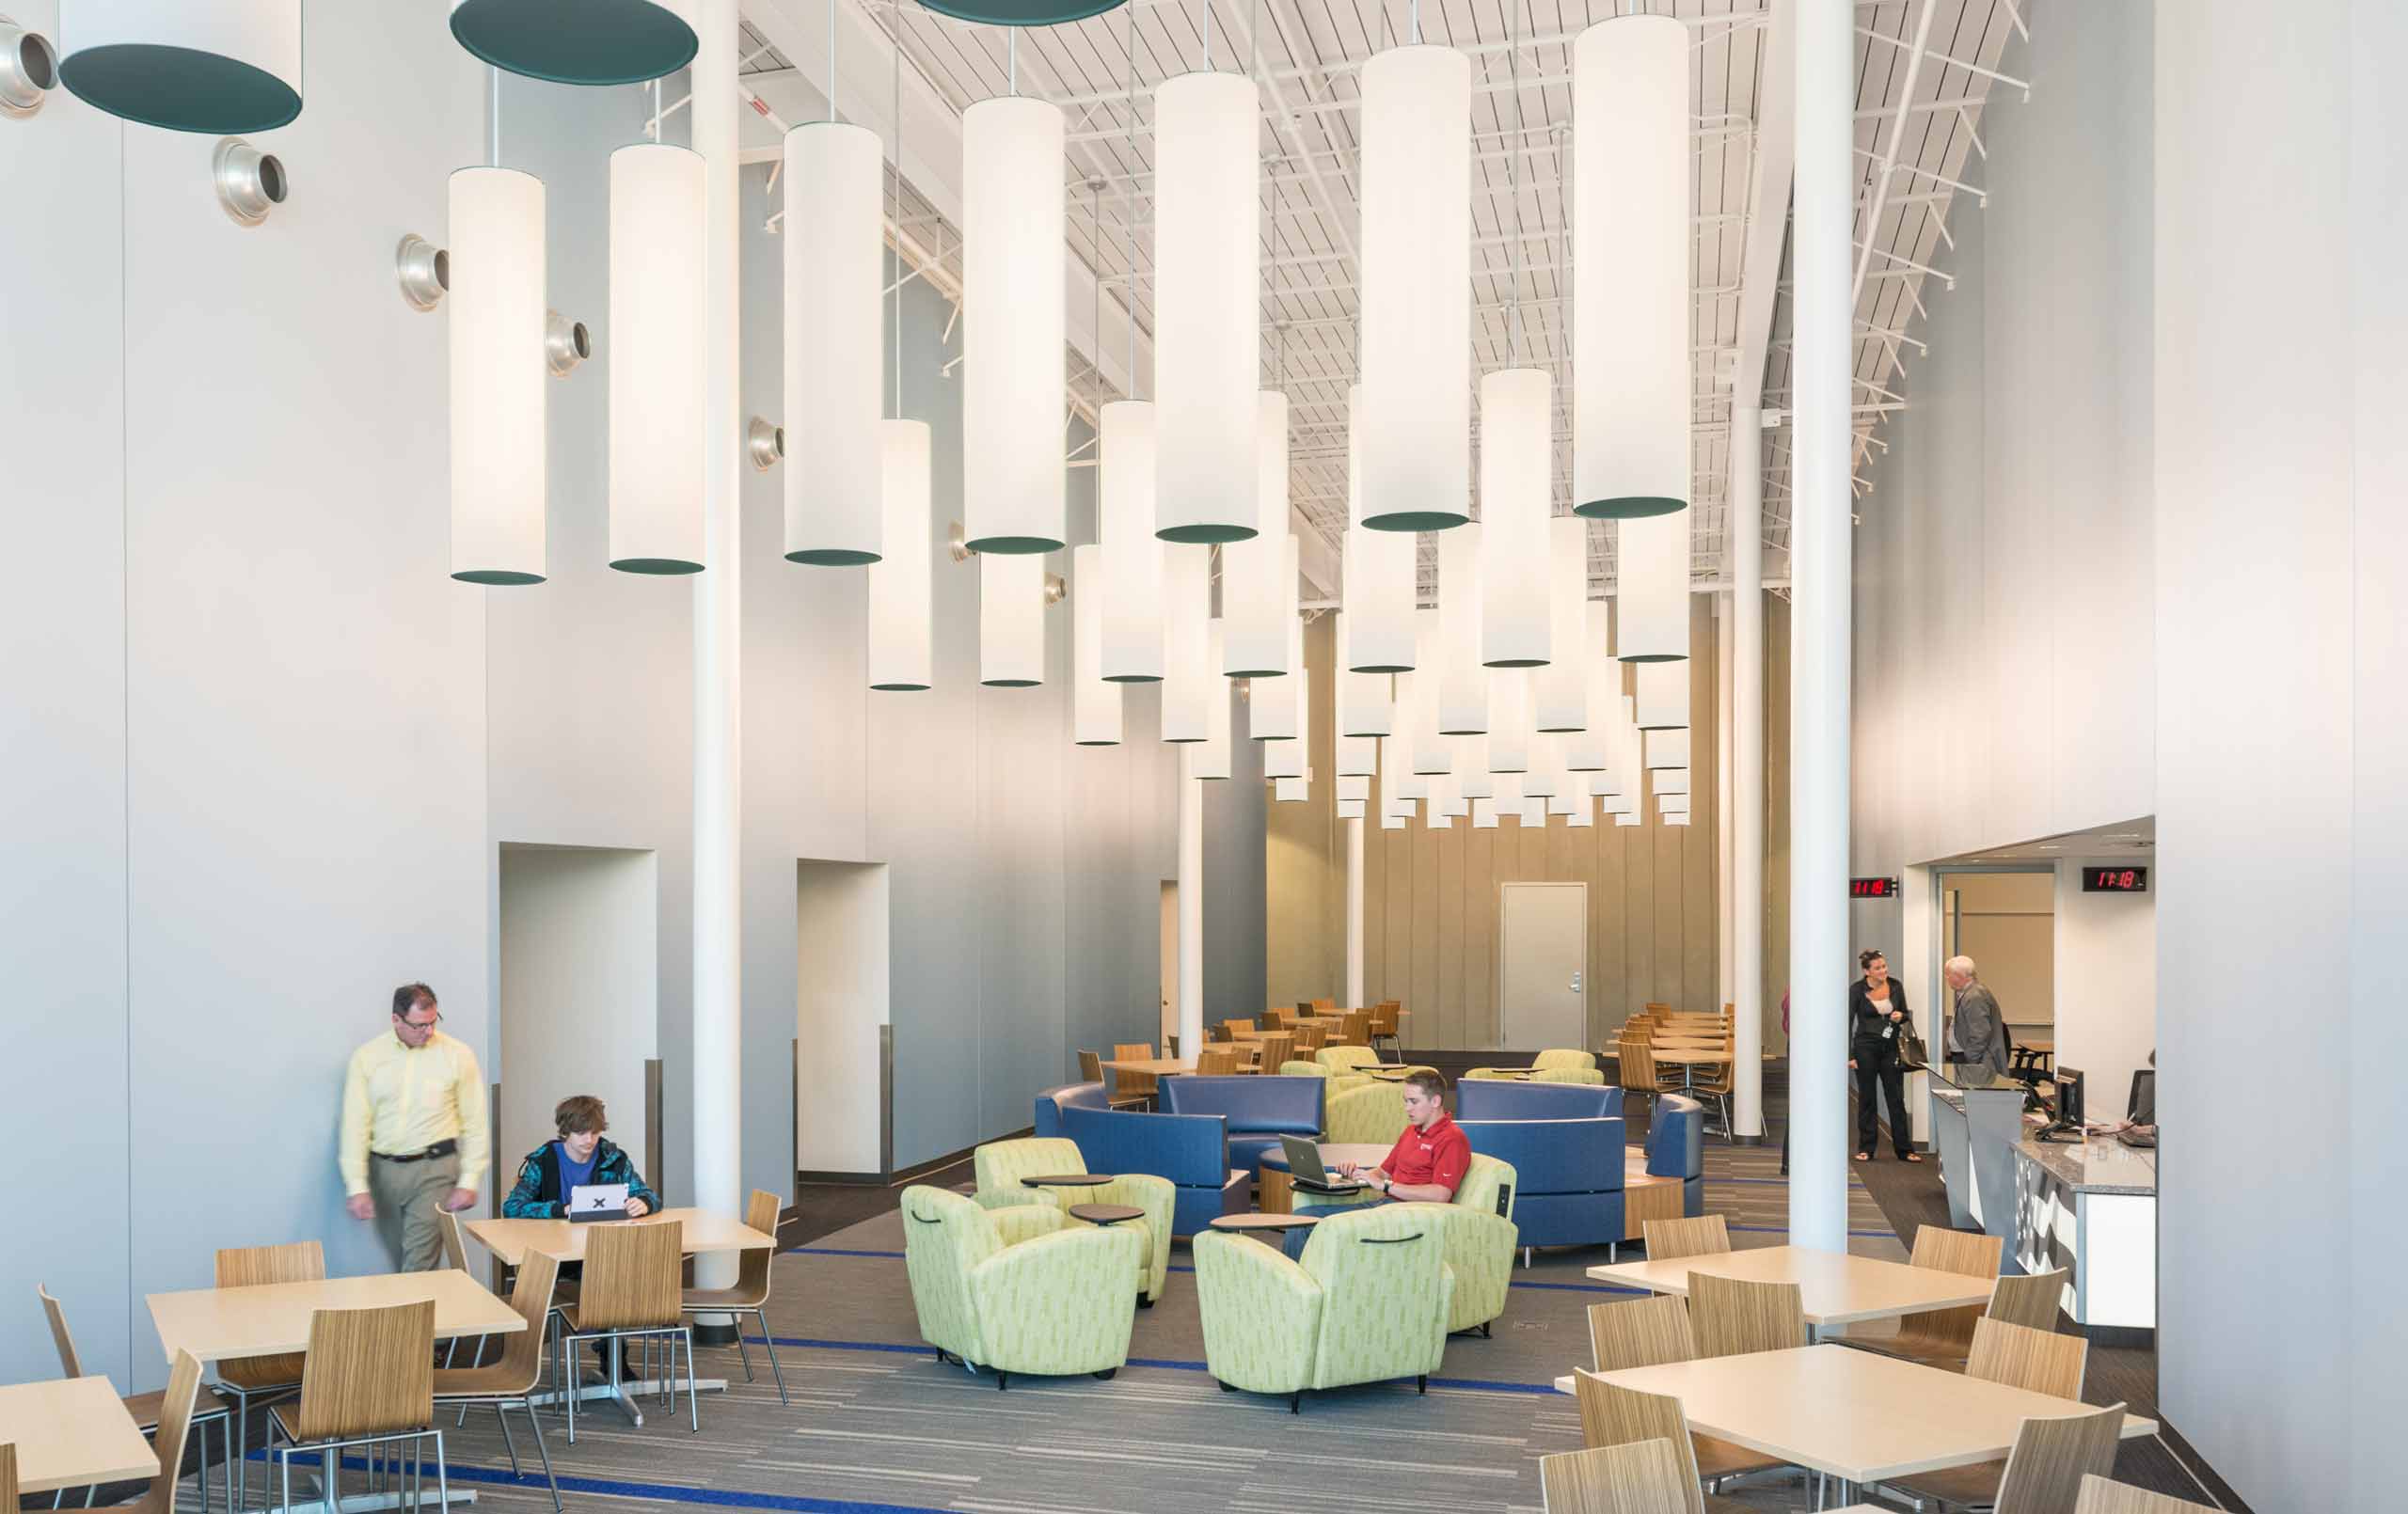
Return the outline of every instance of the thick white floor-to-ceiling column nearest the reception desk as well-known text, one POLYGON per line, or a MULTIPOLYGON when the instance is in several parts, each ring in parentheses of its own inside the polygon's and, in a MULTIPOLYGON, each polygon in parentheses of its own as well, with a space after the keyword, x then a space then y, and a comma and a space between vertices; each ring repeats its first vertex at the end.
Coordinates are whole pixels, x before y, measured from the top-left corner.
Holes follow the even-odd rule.
MULTIPOLYGON (((1852 0, 1796 7, 1789 650, 1789 1244, 1847 1249, 1852 0)), ((1746 1061, 1734 1047, 1734 1061, 1746 1061)))

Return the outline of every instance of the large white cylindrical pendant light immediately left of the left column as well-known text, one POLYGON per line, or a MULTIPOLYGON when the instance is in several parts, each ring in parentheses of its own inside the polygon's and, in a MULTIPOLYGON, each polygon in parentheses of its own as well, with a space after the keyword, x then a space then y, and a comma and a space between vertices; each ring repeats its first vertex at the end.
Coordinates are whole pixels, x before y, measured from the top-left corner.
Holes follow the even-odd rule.
POLYGON ((609 154, 609 566, 621 573, 703 570, 703 156, 662 142, 609 154))

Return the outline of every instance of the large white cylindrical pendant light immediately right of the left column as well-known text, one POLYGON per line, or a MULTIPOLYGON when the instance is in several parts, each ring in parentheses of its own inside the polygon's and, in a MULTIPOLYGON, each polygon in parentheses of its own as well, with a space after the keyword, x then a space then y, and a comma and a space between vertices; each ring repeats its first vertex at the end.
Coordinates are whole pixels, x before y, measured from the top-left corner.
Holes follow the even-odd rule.
POLYGON ((886 270, 886 149, 836 120, 785 135, 785 558, 879 561, 879 286, 886 270))

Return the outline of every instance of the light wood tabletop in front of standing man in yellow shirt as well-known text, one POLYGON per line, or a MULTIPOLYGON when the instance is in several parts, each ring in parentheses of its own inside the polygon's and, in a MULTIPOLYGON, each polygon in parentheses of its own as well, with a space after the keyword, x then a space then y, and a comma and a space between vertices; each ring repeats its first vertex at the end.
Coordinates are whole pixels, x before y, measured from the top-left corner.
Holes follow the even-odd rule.
POLYGON ((380 1309, 419 1300, 436 1305, 436 1341, 510 1336, 527 1329, 518 1309, 453 1268, 154 1293, 149 1307, 169 1360, 176 1360, 178 1350, 190 1350, 202 1362, 231 1362, 308 1350, 308 1319, 318 1309, 380 1309))

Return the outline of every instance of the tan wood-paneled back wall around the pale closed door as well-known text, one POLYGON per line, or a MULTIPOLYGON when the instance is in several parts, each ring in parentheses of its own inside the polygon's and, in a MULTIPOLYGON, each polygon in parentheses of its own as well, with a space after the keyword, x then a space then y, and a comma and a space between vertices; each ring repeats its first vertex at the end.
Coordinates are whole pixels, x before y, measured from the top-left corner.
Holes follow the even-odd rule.
MULTIPOLYGON (((1767 607, 1770 609, 1770 607, 1767 607)), ((1770 621, 1770 616, 1767 616, 1770 621)), ((1782 621, 1787 628, 1787 621, 1782 621)), ((1690 770, 1693 823, 1601 823, 1575 830, 1556 818, 1524 830, 1505 818, 1495 830, 1457 821, 1430 830, 1421 821, 1382 830, 1365 821, 1363 958, 1370 999, 1399 999, 1413 1011, 1409 1040, 1421 1047, 1493 1047, 1498 1042, 1498 883, 1587 883, 1589 891, 1589 1042, 1604 1045, 1642 1004, 1714 1009, 1714 633, 1705 595, 1690 599, 1690 770)), ((1767 640, 1772 640, 1767 628, 1767 640)), ((1784 640, 1784 638, 1782 638, 1784 640)), ((1312 672, 1312 799, 1271 804, 1267 826, 1267 1004, 1341 996, 1346 980, 1346 838, 1336 821, 1332 741, 1332 619, 1305 633, 1312 672)), ((1787 672, 1787 657, 1780 662, 1787 672)), ((1767 684, 1772 667, 1767 664, 1767 684)), ((1772 700, 1767 698, 1767 705, 1772 700)), ((1780 700, 1787 712, 1787 698, 1780 700)), ((1770 727, 1770 722, 1767 722, 1770 727)), ((1767 729, 1767 749, 1775 732, 1767 729)), ((1787 746, 1787 722, 1780 732, 1787 746)), ((1767 763, 1770 792, 1787 787, 1787 761, 1767 763)), ((1373 782, 1377 799, 1380 785, 1373 782)), ((1770 794, 1767 794, 1770 797, 1770 794)), ((1652 799, 1649 799, 1652 809, 1652 799)), ((1377 814, 1377 804, 1373 804, 1377 814)), ((1787 842, 1775 842, 1787 852, 1787 842)), ((1770 871, 1770 869, 1767 869, 1770 871)), ((1787 869, 1780 869, 1782 874, 1787 869)), ((1782 886, 1767 876, 1767 893, 1782 886)), ((1767 922, 1770 924, 1770 922, 1767 922)), ((1787 956, 1767 929, 1765 951, 1787 956)), ((1787 941, 1787 934, 1782 934, 1787 941)), ((1767 977, 1767 982, 1772 982, 1767 977)), ((1780 1004, 1775 989, 1770 1004, 1780 1004)), ((1777 1009, 1767 1016, 1777 1025, 1777 1009)))

